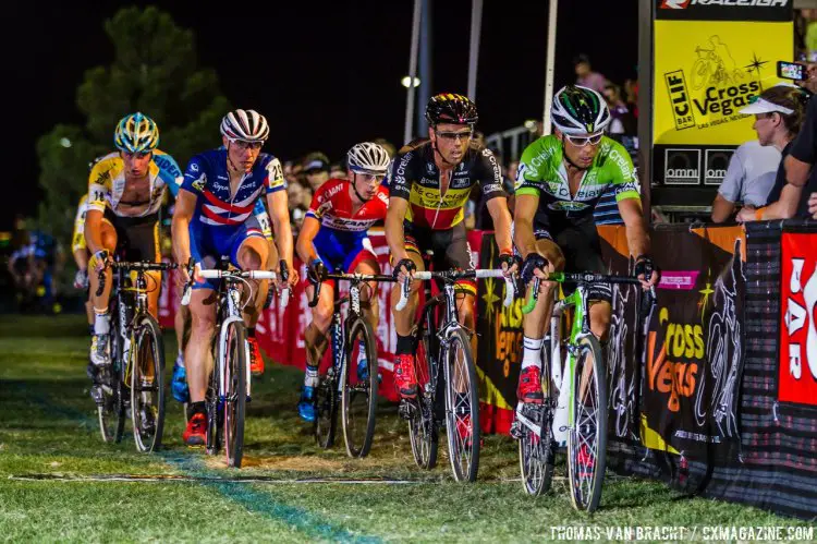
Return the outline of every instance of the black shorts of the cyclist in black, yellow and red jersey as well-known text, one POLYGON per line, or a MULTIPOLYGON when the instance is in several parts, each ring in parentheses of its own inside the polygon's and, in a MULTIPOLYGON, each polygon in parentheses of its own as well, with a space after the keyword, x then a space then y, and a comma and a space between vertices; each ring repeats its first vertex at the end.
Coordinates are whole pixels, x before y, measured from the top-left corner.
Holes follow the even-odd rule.
MULTIPOLYGON (((406 251, 414 252, 420 257, 429 251, 434 252, 431 267, 435 270, 474 269, 464 223, 458 223, 447 230, 431 230, 404 221, 403 232, 406 251)), ((458 291, 476 297, 475 279, 461 279, 454 286, 458 291)))

